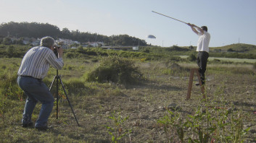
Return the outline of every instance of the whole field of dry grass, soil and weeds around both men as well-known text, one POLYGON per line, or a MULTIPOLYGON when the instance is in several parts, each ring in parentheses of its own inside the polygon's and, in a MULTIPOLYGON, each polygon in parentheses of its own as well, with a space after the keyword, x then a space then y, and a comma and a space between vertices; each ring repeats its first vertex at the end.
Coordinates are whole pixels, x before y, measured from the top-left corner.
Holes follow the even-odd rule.
MULTIPOLYGON (((99 66, 95 57, 67 58, 59 74, 80 126, 60 89, 59 119, 54 106, 49 118, 53 128, 36 131, 20 126, 25 104, 25 95, 15 81, 20 61, 0 58, 1 142, 197 142, 200 138, 206 142, 256 142, 252 64, 210 63, 207 100, 194 85, 191 99, 186 100, 189 69, 197 67, 193 62, 133 59, 144 78, 134 84, 118 84, 86 82, 88 72, 99 66)), ((55 74, 51 69, 44 82, 50 84, 55 74)), ((38 104, 34 110, 34 122, 40 108, 38 104)))

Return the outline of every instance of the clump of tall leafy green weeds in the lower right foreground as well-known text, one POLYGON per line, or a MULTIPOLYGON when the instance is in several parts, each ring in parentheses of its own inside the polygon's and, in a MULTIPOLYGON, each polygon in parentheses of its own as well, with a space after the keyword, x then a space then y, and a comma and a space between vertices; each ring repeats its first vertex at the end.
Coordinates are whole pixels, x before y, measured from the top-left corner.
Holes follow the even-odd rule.
MULTIPOLYGON (((223 86, 215 96, 222 93, 223 86)), ((194 113, 186 117, 181 116, 177 110, 168 110, 167 115, 158 120, 163 126, 168 142, 177 142, 177 137, 179 142, 191 143, 244 142, 245 134, 250 129, 243 126, 247 114, 234 108, 232 103, 227 103, 222 97, 216 99, 220 101, 205 97, 194 109, 194 113)))

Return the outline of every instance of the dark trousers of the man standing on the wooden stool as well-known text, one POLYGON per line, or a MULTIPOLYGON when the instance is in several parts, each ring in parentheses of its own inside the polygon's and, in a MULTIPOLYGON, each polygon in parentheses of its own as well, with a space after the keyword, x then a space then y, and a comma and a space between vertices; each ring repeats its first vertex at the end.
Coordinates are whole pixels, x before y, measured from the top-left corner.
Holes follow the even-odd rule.
POLYGON ((197 55, 197 65, 199 67, 199 74, 201 77, 202 84, 205 84, 205 71, 207 66, 207 60, 209 58, 209 53, 206 51, 199 51, 197 55))

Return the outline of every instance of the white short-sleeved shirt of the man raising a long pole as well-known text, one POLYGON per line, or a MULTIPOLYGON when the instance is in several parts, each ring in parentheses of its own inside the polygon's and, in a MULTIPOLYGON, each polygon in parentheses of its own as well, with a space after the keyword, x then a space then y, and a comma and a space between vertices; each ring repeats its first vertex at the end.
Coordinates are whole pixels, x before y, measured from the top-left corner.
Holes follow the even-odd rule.
POLYGON ((199 38, 197 41, 197 51, 206 51, 207 53, 209 53, 209 43, 210 43, 209 32, 204 31, 204 34, 199 32, 198 35, 199 35, 199 38))

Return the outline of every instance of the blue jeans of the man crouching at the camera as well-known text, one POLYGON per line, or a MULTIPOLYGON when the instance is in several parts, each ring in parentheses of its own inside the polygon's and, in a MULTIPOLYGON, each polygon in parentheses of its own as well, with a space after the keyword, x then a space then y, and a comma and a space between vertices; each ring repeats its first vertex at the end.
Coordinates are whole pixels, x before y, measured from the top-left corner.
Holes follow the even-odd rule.
POLYGON ((36 107, 36 103, 40 101, 42 106, 35 126, 47 126, 48 118, 54 106, 54 97, 51 95, 49 87, 40 79, 32 77, 18 77, 17 84, 25 92, 25 95, 28 96, 22 116, 22 123, 31 122, 33 110, 36 107))

